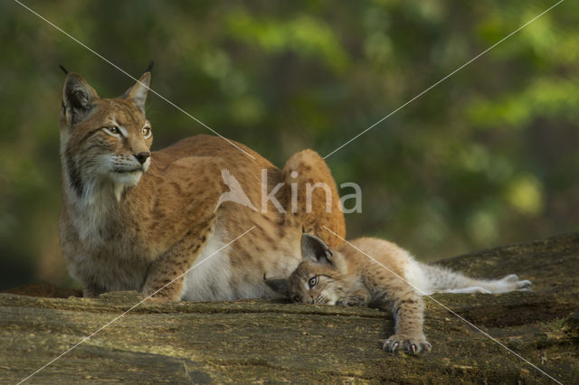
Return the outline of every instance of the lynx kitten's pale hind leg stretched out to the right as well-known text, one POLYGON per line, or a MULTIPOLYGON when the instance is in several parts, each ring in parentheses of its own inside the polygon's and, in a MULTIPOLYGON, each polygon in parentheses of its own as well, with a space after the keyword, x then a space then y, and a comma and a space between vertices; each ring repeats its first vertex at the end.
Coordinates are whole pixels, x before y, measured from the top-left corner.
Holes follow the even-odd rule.
POLYGON ((424 291, 432 293, 507 293, 529 290, 531 281, 519 280, 514 274, 501 279, 477 279, 467 277, 450 268, 420 264, 424 277, 424 291))

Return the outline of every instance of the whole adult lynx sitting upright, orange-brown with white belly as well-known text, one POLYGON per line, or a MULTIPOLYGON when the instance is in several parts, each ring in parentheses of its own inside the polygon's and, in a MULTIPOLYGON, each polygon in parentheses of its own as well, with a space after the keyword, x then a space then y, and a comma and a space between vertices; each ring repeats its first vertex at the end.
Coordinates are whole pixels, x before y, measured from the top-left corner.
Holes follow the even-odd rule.
POLYGON ((274 296, 263 274, 289 275, 298 266, 302 226, 332 245, 339 243, 323 230, 327 226, 345 235, 336 183, 313 151, 293 155, 281 171, 250 148, 232 142, 253 158, 214 136, 189 137, 150 153, 153 134, 145 116, 150 79, 147 71, 117 99, 100 99, 78 74, 69 73, 65 80, 61 244, 85 296, 133 289, 148 295, 201 262, 156 297, 274 296), (287 212, 276 210, 272 200, 265 202, 268 210, 220 202, 228 192, 223 170, 256 205, 268 192, 262 190, 263 170, 268 186, 287 182, 275 194, 285 208, 291 204, 290 183, 326 183, 333 210, 318 210, 325 208, 317 202, 326 198, 321 192, 314 192, 312 212, 302 210, 301 201, 298 211, 287 212))

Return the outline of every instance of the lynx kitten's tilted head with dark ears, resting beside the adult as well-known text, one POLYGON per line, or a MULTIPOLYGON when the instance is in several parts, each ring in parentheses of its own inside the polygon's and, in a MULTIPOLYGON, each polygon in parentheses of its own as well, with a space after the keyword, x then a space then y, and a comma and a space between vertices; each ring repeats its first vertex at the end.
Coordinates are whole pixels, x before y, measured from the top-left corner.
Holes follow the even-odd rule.
POLYGON ((289 277, 265 279, 273 291, 302 304, 336 305, 348 291, 346 259, 323 240, 301 236, 302 262, 289 277))

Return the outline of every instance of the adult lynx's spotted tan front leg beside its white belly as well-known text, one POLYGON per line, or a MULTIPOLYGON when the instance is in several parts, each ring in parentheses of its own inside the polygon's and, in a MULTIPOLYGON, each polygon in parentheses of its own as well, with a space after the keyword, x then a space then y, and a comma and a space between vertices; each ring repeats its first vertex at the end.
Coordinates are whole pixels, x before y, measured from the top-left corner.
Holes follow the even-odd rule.
POLYGON ((209 238, 211 229, 206 228, 197 235, 187 232, 173 248, 151 263, 147 280, 143 286, 144 296, 152 296, 159 302, 178 301, 183 289, 187 269, 193 266, 209 238))

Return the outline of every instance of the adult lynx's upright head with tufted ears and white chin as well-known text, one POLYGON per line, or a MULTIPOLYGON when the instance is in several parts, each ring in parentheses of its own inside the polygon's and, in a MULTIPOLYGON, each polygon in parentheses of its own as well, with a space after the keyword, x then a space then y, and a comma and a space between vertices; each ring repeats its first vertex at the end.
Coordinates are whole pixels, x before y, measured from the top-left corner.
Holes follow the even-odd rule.
POLYGON ((145 101, 151 74, 116 99, 100 99, 89 83, 67 73, 62 89, 61 157, 63 178, 72 194, 89 197, 105 186, 120 199, 151 162, 151 125, 145 101))

